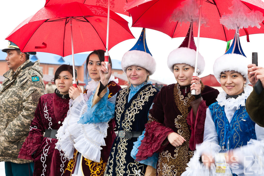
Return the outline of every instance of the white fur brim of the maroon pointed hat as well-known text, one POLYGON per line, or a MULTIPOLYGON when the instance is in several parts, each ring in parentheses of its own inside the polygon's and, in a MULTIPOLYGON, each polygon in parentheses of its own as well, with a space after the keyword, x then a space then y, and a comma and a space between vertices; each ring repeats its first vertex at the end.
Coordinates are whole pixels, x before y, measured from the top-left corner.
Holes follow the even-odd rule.
MULTIPOLYGON (((196 51, 186 47, 177 48, 169 53, 167 64, 173 73, 174 64, 188 64, 195 67, 196 51)), ((205 67, 204 57, 199 53, 197 60, 197 68, 200 70, 198 75, 202 74, 205 67)))

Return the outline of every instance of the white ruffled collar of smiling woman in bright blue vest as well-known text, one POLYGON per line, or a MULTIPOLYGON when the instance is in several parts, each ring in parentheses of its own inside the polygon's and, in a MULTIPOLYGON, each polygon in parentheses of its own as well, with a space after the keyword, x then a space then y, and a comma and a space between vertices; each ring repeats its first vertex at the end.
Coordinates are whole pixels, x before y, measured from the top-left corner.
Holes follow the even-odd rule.
POLYGON ((253 91, 253 87, 246 84, 246 87, 244 88, 244 93, 242 93, 240 96, 235 98, 228 98, 226 99, 227 93, 225 91, 222 91, 219 93, 219 95, 216 98, 216 101, 218 101, 218 104, 220 106, 225 106, 227 109, 233 109, 234 107, 239 109, 239 106, 246 106, 245 100, 250 95, 250 93, 253 91))

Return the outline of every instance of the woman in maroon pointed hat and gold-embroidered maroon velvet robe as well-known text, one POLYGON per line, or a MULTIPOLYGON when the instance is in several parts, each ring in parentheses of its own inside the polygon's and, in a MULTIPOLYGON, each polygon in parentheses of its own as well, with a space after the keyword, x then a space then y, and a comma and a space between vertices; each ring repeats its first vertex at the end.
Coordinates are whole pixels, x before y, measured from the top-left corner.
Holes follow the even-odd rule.
MULTIPOLYGON (((192 77, 195 50, 190 26, 181 46, 168 56, 168 67, 177 83, 161 88, 149 110, 145 132, 134 143, 131 152, 136 161, 149 165, 145 175, 180 176, 196 144, 203 140, 206 107, 215 102, 219 92, 204 85, 199 77, 192 77), (196 95, 191 95, 191 90, 195 90, 196 95)), ((204 65, 204 59, 199 53, 199 74, 204 70, 204 65)))

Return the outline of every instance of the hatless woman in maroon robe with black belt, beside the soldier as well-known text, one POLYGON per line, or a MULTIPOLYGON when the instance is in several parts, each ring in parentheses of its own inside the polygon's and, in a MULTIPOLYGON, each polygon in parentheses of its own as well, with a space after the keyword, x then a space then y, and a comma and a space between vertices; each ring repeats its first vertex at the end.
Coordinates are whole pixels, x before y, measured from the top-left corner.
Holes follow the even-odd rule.
MULTIPOLYGON (((54 75, 54 93, 40 97, 29 136, 20 149, 18 158, 34 160, 33 175, 62 175, 67 164, 63 152, 56 150, 56 131, 69 110, 69 87, 72 86, 73 69, 61 65, 54 75), (54 134, 53 134, 54 132, 54 134), (44 134, 45 133, 45 134, 44 134)), ((75 72, 77 77, 77 72, 75 72)))

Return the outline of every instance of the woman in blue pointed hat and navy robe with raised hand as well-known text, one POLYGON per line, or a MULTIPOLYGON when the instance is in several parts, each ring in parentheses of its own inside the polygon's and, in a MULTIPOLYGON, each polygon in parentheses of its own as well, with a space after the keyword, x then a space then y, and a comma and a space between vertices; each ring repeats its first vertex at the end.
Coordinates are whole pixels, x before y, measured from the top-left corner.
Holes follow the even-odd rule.
POLYGON ((149 54, 145 42, 145 30, 143 29, 138 42, 124 54, 121 61, 129 86, 122 88, 108 101, 108 90, 103 88, 110 77, 111 69, 109 68, 109 73, 106 73, 103 65, 104 63, 100 70, 100 88, 97 88, 93 99, 87 102, 88 111, 79 122, 93 124, 109 121, 115 117, 119 133, 112 145, 104 175, 144 175, 147 166, 136 162, 130 156, 130 152, 133 142, 144 130, 144 125, 148 121, 149 108, 159 92, 148 80, 149 75, 155 72, 156 63, 149 54), (100 91, 101 88, 103 91, 100 91), (104 116, 98 111, 101 111, 104 116))

